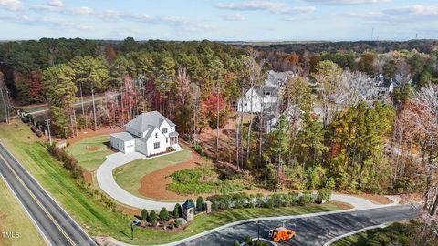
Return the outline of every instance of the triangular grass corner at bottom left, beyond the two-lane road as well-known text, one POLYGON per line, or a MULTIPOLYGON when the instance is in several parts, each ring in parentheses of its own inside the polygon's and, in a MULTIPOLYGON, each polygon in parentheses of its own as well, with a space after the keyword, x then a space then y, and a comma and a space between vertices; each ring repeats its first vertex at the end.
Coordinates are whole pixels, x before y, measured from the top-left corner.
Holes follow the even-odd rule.
POLYGON ((0 245, 47 245, 4 179, 0 179, 0 198, 0 231, 19 233, 15 239, 0 235, 0 245))

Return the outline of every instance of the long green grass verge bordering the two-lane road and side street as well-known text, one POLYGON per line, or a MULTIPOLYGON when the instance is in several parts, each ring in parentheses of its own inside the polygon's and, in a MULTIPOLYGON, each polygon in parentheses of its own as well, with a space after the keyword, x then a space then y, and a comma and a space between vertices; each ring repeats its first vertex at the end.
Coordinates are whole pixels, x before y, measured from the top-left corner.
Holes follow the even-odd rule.
POLYGON ((184 231, 136 230, 134 240, 130 240, 130 221, 133 218, 101 206, 87 190, 78 186, 76 180, 69 176, 59 162, 50 157, 41 144, 28 136, 35 138, 34 133, 21 121, 0 125, 0 139, 6 147, 91 236, 110 236, 132 244, 160 244, 180 240, 235 220, 339 210, 333 204, 274 210, 229 210, 198 216, 184 231))

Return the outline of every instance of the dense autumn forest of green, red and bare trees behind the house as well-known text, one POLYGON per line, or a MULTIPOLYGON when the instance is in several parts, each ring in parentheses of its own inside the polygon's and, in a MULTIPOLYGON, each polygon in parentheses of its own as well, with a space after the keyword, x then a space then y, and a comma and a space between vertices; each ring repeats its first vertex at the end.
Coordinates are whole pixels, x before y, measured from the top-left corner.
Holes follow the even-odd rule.
POLYGON ((226 149, 218 130, 211 158, 267 189, 418 192, 427 214, 438 211, 436 41, 252 47, 44 38, 0 44, 0 70, 0 110, 47 103, 58 138, 159 110, 202 152, 199 135, 231 120, 226 149), (234 105, 263 86, 269 69, 296 76, 279 92, 278 122, 266 132, 268 112, 244 116, 234 105), (101 103, 73 109, 96 93, 101 103))

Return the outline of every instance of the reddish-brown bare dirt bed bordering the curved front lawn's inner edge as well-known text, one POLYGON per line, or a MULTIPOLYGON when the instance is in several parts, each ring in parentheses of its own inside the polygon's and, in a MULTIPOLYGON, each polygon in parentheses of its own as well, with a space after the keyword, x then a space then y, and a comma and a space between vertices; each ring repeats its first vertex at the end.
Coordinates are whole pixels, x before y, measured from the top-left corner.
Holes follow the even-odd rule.
POLYGON ((175 171, 182 169, 193 169, 199 167, 203 159, 197 153, 192 152, 193 158, 189 161, 175 164, 170 167, 159 169, 141 178, 139 193, 145 197, 156 200, 186 200, 186 196, 178 195, 171 190, 166 190, 166 186, 172 182, 168 176, 175 171))

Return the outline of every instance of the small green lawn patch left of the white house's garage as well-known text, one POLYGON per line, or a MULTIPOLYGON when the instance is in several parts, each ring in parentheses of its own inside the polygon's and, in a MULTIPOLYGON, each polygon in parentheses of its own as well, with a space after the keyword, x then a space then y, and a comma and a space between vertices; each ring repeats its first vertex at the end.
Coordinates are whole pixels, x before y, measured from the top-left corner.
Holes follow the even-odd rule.
POLYGON ((109 135, 90 137, 68 146, 67 151, 78 159, 79 166, 93 172, 105 161, 106 156, 113 153, 107 146, 109 143, 109 135))

